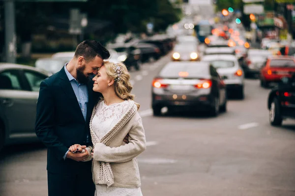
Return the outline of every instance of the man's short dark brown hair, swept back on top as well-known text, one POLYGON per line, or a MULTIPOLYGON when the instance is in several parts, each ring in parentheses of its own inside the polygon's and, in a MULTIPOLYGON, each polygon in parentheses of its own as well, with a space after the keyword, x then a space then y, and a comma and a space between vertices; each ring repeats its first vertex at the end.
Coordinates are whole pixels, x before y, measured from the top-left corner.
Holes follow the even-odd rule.
POLYGON ((83 56, 86 61, 92 60, 95 56, 100 56, 102 59, 108 59, 110 57, 110 52, 98 41, 88 39, 77 46, 75 57, 79 56, 83 56))

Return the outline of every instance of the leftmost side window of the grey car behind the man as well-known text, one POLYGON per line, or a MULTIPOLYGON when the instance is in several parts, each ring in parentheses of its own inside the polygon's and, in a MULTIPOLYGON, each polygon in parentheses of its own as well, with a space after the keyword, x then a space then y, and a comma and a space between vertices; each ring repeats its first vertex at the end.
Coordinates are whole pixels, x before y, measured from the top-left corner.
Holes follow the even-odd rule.
POLYGON ((0 73, 0 89, 22 90, 17 70, 0 73))

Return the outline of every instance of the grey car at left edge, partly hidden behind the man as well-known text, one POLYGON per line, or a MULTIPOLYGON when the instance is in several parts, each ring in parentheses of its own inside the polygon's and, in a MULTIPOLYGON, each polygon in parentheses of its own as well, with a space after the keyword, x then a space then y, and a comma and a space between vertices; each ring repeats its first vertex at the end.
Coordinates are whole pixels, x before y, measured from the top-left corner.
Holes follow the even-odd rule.
POLYGON ((0 63, 0 148, 39 141, 35 134, 40 84, 51 73, 12 63, 0 63))

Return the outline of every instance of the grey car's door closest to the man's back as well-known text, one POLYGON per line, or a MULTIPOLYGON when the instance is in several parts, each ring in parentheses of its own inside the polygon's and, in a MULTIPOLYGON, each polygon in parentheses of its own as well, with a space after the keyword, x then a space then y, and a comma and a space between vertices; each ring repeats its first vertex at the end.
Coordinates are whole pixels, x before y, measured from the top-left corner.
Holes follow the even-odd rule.
POLYGON ((40 84, 43 80, 45 80, 48 76, 37 72, 33 70, 23 70, 23 78, 25 83, 28 84, 28 94, 29 96, 27 97, 27 126, 28 130, 32 130, 33 133, 35 133, 35 120, 36 120, 36 106, 37 106, 37 101, 38 101, 38 96, 39 96, 39 89, 40 89, 40 84))

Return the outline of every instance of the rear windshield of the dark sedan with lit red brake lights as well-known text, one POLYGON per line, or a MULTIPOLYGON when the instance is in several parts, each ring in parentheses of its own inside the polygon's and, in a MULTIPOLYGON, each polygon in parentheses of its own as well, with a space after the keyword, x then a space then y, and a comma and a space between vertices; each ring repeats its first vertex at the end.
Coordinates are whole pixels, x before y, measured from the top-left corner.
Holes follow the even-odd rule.
POLYGON ((204 64, 168 64, 160 72, 163 78, 179 78, 179 72, 188 72, 187 78, 200 78, 209 75, 209 67, 204 64))

